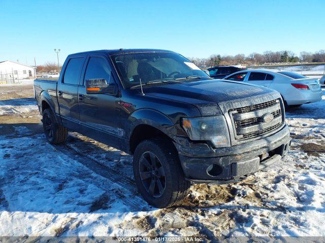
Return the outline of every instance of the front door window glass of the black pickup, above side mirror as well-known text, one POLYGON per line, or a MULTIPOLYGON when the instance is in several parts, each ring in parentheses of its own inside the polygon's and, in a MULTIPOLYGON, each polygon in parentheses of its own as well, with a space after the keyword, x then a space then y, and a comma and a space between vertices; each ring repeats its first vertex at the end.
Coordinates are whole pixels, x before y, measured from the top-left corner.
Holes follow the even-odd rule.
POLYGON ((97 78, 105 79, 107 84, 109 84, 111 79, 111 68, 104 58, 91 57, 87 65, 85 80, 97 78))

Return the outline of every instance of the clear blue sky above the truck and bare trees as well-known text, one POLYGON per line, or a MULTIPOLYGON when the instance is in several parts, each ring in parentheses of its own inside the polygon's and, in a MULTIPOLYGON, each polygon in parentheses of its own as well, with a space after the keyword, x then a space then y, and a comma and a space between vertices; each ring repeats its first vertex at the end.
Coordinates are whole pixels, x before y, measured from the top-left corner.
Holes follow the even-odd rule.
POLYGON ((186 57, 325 49, 325 1, 0 0, 0 60, 168 49, 186 57))

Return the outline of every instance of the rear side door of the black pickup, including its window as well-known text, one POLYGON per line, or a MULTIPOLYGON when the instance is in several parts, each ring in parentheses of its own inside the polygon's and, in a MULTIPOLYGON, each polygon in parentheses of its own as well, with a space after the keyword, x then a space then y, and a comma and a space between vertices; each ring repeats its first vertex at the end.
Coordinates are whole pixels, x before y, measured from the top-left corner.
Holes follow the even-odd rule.
POLYGON ((64 73, 57 85, 59 112, 63 126, 76 130, 79 126, 78 88, 84 56, 73 56, 63 65, 64 73))

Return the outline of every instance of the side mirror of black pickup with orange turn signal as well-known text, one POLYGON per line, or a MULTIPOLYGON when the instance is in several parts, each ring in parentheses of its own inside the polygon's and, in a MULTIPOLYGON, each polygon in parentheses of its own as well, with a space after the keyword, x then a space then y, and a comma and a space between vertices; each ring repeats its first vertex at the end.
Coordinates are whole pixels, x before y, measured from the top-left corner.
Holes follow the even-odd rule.
POLYGON ((86 93, 117 95, 117 86, 115 83, 107 84, 104 78, 86 79, 86 93))

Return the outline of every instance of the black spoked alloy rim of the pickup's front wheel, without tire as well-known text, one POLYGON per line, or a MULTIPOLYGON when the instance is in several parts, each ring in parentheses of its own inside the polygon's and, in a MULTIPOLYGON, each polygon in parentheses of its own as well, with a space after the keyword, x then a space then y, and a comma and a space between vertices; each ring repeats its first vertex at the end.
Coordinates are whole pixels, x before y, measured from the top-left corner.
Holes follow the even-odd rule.
POLYGON ((153 152, 144 152, 139 161, 142 184, 153 197, 160 197, 166 189, 165 170, 159 158, 153 152))

